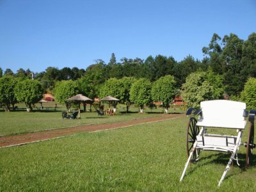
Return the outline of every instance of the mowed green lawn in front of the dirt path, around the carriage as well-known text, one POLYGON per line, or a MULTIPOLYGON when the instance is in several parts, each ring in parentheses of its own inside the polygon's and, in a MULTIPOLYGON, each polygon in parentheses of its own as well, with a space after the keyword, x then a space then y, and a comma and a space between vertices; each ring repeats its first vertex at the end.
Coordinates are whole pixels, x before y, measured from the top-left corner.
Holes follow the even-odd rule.
POLYGON ((0 191, 255 191, 256 168, 244 168, 243 146, 241 168, 234 163, 220 188, 230 157, 221 152, 202 152, 179 182, 187 122, 176 118, 1 148, 0 191))

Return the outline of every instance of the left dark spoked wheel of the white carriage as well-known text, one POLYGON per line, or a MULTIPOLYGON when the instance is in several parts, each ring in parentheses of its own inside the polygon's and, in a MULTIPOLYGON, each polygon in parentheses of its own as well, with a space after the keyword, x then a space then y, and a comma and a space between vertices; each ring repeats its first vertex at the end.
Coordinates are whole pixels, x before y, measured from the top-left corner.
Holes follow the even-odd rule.
MULTIPOLYGON (((199 133, 199 127, 196 126, 197 120, 195 117, 191 117, 188 122, 188 129, 187 129, 187 141, 186 141, 186 148, 187 148, 187 154, 189 156, 189 153, 193 149, 193 145, 196 141, 196 135, 199 133)), ((197 151, 197 154, 199 155, 199 151, 197 151)), ((193 153, 192 161, 195 161, 196 159, 196 150, 193 153)))

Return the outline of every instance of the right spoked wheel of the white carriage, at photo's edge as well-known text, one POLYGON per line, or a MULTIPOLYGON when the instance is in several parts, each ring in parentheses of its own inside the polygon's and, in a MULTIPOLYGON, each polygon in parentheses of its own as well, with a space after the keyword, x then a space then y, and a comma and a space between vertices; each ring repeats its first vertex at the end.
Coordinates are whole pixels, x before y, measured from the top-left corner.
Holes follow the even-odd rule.
POLYGON ((247 147, 246 147, 246 167, 252 164, 252 150, 255 148, 253 143, 254 139, 254 123, 251 123, 250 129, 248 131, 247 147))

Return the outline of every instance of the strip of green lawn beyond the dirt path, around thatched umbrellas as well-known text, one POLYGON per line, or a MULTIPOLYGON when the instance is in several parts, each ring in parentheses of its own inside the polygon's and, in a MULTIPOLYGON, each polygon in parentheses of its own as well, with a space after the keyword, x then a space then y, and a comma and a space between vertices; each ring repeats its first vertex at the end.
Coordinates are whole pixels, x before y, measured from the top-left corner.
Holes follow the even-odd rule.
MULTIPOLYGON (((22 105, 20 105, 22 107, 22 105)), ((20 108, 19 106, 19 108, 20 108)), ((22 134, 26 132, 42 131, 45 129, 58 129, 63 127, 72 127, 77 125, 102 124, 117 121, 131 120, 134 118, 143 118, 148 116, 156 116, 161 114, 162 108, 146 109, 144 114, 138 113, 138 109, 132 106, 132 113, 125 113, 125 106, 118 105, 118 113, 114 116, 98 116, 96 112, 81 113, 81 119, 62 119, 61 111, 63 106, 59 106, 54 111, 52 106, 54 102, 44 103, 45 108, 40 111, 28 113, 26 111, 0 112, 0 136, 22 134), (47 110, 46 110, 47 109, 47 110)), ((178 110, 177 112, 181 112, 178 110)), ((170 109, 173 113, 173 109, 170 109)))

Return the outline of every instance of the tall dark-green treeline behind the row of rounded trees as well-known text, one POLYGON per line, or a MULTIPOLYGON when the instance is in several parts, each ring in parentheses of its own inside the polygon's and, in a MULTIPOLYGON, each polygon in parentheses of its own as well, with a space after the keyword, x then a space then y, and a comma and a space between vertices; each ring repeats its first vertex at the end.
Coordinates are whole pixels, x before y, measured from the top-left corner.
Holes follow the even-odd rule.
MULTIPOLYGON (((239 97, 249 77, 256 77, 256 33, 248 36, 247 40, 240 39, 234 33, 221 38, 218 34, 212 35, 208 46, 202 47, 204 58, 198 60, 188 55, 182 61, 176 61, 172 56, 153 57, 148 56, 145 60, 140 58, 122 58, 116 61, 115 53, 111 54, 108 63, 97 60, 94 64, 83 68, 47 67, 44 72, 32 72, 29 69, 20 68, 16 73, 10 68, 0 68, 0 77, 13 76, 17 78, 38 79, 45 90, 50 92, 58 81, 83 78, 86 83, 99 87, 111 77, 146 78, 151 82, 160 77, 172 75, 176 81, 176 87, 180 88, 186 82, 186 77, 192 72, 209 71, 223 77, 225 92, 228 95, 239 97)), ((95 93, 96 94, 96 93, 95 93)))

